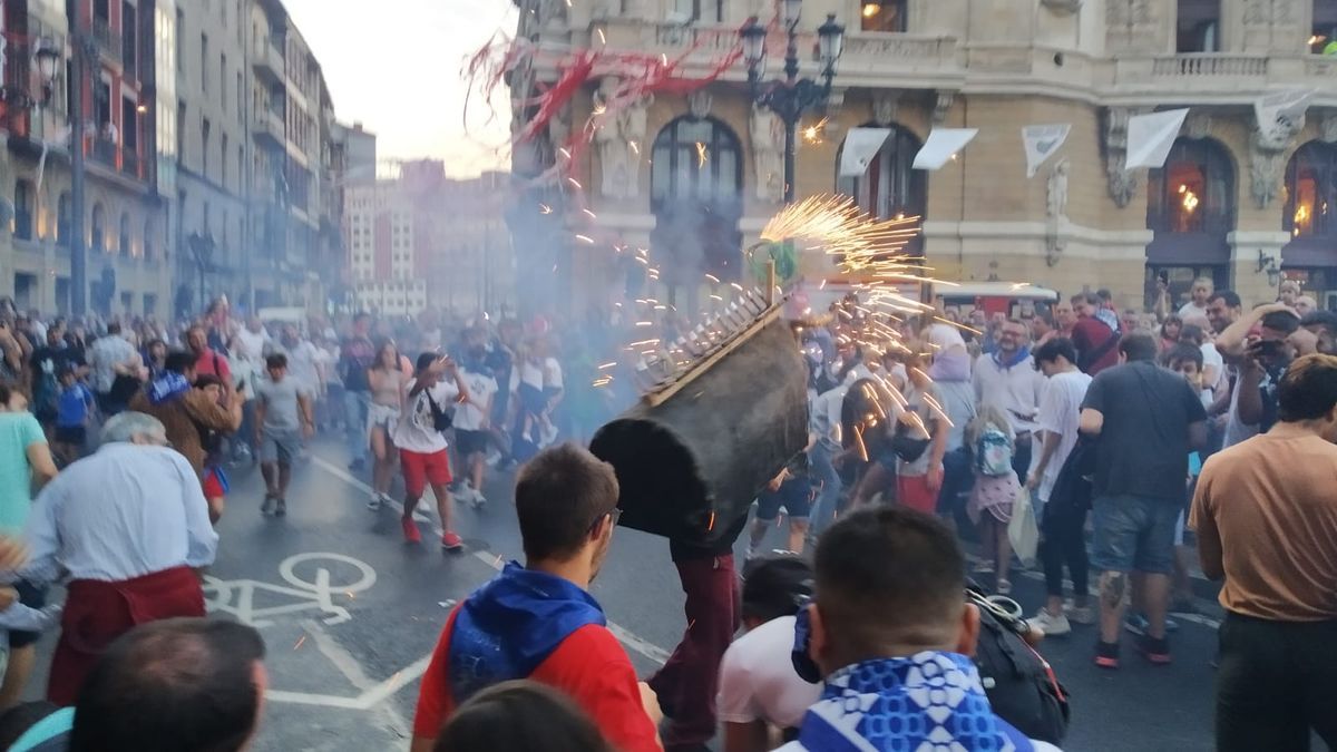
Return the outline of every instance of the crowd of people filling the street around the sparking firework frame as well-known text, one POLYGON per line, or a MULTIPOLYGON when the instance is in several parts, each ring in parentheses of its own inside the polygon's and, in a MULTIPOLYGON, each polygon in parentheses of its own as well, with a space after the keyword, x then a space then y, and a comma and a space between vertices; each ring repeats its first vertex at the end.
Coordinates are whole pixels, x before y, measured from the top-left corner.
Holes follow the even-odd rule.
POLYGON ((218 301, 164 328, 0 302, 0 571, 12 582, 0 587, 0 709, 12 709, 0 737, 12 749, 245 748, 263 642, 205 618, 198 571, 214 561, 229 470, 258 464, 258 508, 281 518, 294 466, 325 432, 369 480, 370 510, 396 504, 402 482, 408 543, 421 542, 414 511, 431 490, 440 545, 461 549, 455 500, 485 504, 485 487, 517 468, 524 562, 451 612, 416 752, 687 752, 721 731, 726 752, 1054 749, 1062 729, 1013 716, 972 660, 996 638, 981 618, 997 614, 968 589, 1011 593, 1015 567, 1032 563, 1013 554, 1013 522, 1031 515, 1047 599, 1020 640, 1090 625, 1103 669, 1120 666, 1124 632, 1170 664, 1169 614, 1194 607, 1197 558, 1226 581, 1218 748, 1304 749, 1310 729, 1337 743, 1316 657, 1337 636, 1337 504, 1322 491, 1337 460, 1337 314, 1301 292, 1286 282, 1246 310, 1198 281, 1178 310, 1161 300, 1120 314, 1102 290, 1024 314, 944 310, 894 336, 853 298, 794 321, 808 448, 759 490, 750 525, 671 542, 687 629, 646 681, 588 591, 619 482, 578 442, 634 399, 623 335, 668 343, 685 322, 262 321, 218 301), (603 377, 610 367, 624 377, 603 377), (781 514, 786 550, 766 553, 781 514), (62 581, 64 606, 47 605, 62 581), (20 704, 33 642, 56 625, 48 702, 20 704))

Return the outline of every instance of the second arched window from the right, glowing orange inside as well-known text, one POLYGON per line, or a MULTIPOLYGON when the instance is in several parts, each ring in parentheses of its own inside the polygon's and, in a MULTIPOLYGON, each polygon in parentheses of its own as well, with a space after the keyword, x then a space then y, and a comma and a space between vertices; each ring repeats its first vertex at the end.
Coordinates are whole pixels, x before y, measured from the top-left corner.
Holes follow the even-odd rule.
POLYGON ((1225 234, 1235 221, 1235 169, 1215 140, 1181 138, 1165 167, 1147 177, 1147 227, 1157 233, 1225 234))

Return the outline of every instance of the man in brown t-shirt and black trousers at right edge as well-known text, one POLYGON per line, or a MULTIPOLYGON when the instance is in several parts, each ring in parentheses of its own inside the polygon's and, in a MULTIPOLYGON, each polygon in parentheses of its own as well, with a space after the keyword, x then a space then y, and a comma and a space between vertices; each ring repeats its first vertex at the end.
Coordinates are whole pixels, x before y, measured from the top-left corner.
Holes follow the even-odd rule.
POLYGON ((1190 526, 1225 578, 1217 749, 1337 748, 1337 357, 1278 387, 1278 423, 1202 468, 1190 526))

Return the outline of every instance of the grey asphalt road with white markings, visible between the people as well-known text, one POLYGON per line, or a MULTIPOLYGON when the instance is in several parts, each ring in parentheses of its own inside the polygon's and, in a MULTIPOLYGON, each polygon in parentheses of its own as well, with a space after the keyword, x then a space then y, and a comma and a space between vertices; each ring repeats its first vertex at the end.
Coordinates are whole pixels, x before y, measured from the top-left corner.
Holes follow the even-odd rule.
MULTIPOLYGON (((342 458, 337 442, 318 443, 295 472, 282 519, 259 514, 258 471, 233 471, 206 594, 211 612, 255 625, 269 648, 257 752, 406 749, 418 678, 449 606, 520 557, 509 476, 492 478, 485 510, 456 510, 467 549, 447 554, 429 534, 435 510, 422 526, 424 543, 406 546, 397 511, 368 510, 366 487, 344 470, 342 458)), ((782 533, 773 530, 767 543, 779 546, 782 533)), ((1034 612, 1043 599, 1038 574, 1013 581, 1013 597, 1034 612)), ((685 628, 667 542, 619 530, 592 591, 638 670, 652 672, 685 628)), ((1096 669, 1090 626, 1044 642, 1042 652, 1072 697, 1066 749, 1211 749, 1210 614, 1219 609, 1203 601, 1199 610, 1209 616, 1182 621, 1173 636, 1171 666, 1143 662, 1130 642, 1120 670, 1096 669)), ((40 644, 32 697, 45 686, 53 642, 48 634, 40 644)))

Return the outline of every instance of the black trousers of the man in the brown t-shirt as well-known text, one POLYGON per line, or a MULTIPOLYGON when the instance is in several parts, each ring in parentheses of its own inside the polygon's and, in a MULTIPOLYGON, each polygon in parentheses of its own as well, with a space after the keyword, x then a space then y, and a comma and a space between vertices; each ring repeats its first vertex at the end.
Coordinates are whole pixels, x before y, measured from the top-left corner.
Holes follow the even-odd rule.
POLYGON ((1226 614, 1217 670, 1217 749, 1308 752, 1310 729, 1337 748, 1337 620, 1226 614))

